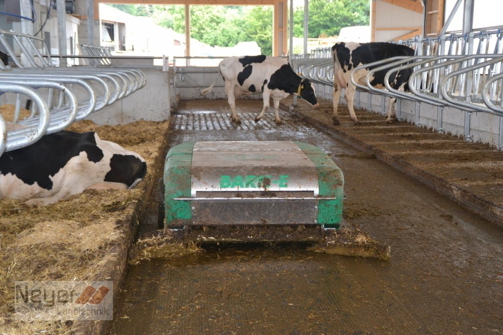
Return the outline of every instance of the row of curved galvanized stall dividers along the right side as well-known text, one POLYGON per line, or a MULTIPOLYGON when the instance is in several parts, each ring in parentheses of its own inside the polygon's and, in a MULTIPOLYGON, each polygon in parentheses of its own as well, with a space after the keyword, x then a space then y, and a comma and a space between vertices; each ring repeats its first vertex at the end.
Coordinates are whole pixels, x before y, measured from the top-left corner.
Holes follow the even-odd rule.
MULTIPOLYGON (((351 75, 357 90, 418 103, 416 121, 420 103, 436 106, 440 115, 439 130, 442 130, 441 110, 444 107, 467 112, 467 139, 470 137, 469 114, 484 112, 499 116, 501 129, 498 147, 503 149, 503 30, 416 38, 400 43, 415 49, 415 56, 393 57, 357 66, 351 75), (373 68, 368 70, 370 67, 373 68), (362 69, 368 71, 364 82, 355 82, 355 73, 362 69), (393 89, 389 78, 398 71, 408 69, 412 69, 408 80, 409 92, 393 89), (377 71, 386 72, 383 88, 370 85, 377 71)), ((333 60, 329 56, 331 48, 318 48, 310 58, 293 57, 293 64, 297 66, 300 76, 319 85, 333 86, 333 60)))

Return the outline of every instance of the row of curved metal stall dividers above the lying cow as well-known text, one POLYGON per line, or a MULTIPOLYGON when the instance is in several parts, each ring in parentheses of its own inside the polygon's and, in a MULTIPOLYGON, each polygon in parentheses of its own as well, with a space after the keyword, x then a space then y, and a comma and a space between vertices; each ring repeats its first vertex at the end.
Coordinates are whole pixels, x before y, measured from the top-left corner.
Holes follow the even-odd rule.
POLYGON ((13 118, 0 116, 0 155, 85 119, 146 84, 141 70, 116 67, 110 59, 100 68, 55 66, 57 58, 50 56, 45 41, 27 34, 0 30, 0 47, 15 64, 11 67, 0 61, 0 94, 16 95, 13 118), (23 120, 22 98, 34 103, 23 120))

